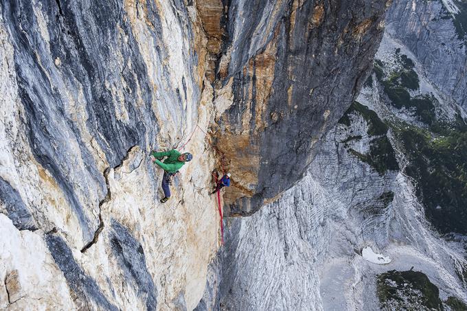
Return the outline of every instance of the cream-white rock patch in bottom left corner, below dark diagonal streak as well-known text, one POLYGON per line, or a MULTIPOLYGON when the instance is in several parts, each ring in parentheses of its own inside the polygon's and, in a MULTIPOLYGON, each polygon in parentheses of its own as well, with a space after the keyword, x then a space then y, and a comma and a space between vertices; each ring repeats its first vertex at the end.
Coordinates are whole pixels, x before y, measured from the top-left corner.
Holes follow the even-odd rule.
POLYGON ((43 235, 18 231, 0 214, 0 308, 75 308, 62 271, 47 250, 43 235))

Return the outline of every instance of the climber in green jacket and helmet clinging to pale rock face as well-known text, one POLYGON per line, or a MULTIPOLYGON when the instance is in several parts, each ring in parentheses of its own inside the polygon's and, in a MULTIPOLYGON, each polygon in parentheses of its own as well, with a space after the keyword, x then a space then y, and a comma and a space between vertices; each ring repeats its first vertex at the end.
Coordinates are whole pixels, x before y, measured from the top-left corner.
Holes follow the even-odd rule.
POLYGON ((170 198, 170 178, 179 172, 180 168, 183 166, 183 164, 185 164, 185 162, 192 161, 193 156, 190 152, 181 154, 175 149, 172 149, 170 151, 163 152, 153 151, 151 152, 151 159, 153 163, 156 163, 164 170, 162 177, 162 189, 165 197, 161 199, 161 203, 166 203, 170 198), (164 157, 167 158, 161 162, 160 160, 164 157))

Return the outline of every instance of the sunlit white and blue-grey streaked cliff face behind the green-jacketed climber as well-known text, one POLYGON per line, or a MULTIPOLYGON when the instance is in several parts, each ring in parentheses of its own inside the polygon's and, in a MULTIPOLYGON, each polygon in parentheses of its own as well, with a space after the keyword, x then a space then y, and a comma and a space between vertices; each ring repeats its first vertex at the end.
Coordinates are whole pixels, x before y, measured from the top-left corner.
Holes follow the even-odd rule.
POLYGON ((0 12, 0 308, 191 310, 218 248, 196 8, 2 1, 0 12), (148 152, 181 148, 195 128, 182 150, 194 160, 161 205, 148 152))

